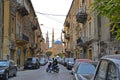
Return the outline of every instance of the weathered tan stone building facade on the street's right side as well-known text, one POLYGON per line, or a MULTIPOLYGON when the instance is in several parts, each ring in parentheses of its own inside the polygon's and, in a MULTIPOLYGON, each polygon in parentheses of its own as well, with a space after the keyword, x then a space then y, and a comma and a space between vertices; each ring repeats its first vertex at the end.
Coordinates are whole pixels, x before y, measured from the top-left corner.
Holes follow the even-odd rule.
POLYGON ((119 52, 120 42, 110 32, 112 26, 106 27, 109 19, 91 11, 93 1, 73 0, 71 4, 64 23, 65 51, 68 57, 98 60, 104 55, 114 54, 114 51, 119 52))

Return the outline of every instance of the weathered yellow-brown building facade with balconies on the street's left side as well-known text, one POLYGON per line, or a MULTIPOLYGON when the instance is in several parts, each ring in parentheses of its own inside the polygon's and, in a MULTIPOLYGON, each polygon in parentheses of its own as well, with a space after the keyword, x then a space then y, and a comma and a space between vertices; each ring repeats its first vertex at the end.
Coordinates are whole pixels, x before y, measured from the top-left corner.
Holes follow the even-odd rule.
POLYGON ((26 58, 41 53, 43 37, 39 22, 30 0, 3 0, 3 3, 1 59, 13 59, 22 66, 26 58))

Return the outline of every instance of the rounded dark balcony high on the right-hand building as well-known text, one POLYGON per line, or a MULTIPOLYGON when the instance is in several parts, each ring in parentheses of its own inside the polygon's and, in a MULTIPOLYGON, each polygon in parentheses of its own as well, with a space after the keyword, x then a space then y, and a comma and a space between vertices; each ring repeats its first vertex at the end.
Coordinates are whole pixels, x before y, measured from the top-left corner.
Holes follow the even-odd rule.
POLYGON ((87 13, 81 8, 78 10, 76 15, 76 21, 78 23, 85 23, 87 20, 87 13))

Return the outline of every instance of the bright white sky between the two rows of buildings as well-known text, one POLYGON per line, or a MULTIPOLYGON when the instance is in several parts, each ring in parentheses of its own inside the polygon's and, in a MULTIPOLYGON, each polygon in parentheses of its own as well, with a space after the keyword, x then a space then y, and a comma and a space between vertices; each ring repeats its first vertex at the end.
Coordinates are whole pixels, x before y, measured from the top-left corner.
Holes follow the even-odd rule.
MULTIPOLYGON (((31 0, 43 37, 46 39, 48 31, 49 41, 52 41, 52 30, 54 29, 54 40, 60 40, 63 24, 70 9, 72 0, 31 0)), ((50 43, 51 44, 51 43, 50 43)))

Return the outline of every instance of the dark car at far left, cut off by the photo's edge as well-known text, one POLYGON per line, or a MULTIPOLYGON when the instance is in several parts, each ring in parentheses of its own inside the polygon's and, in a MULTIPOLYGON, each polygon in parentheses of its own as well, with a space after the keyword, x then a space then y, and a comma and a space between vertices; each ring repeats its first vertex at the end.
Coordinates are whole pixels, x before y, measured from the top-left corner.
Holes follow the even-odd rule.
POLYGON ((13 60, 0 60, 0 78, 8 80, 10 76, 17 75, 17 65, 13 60))

